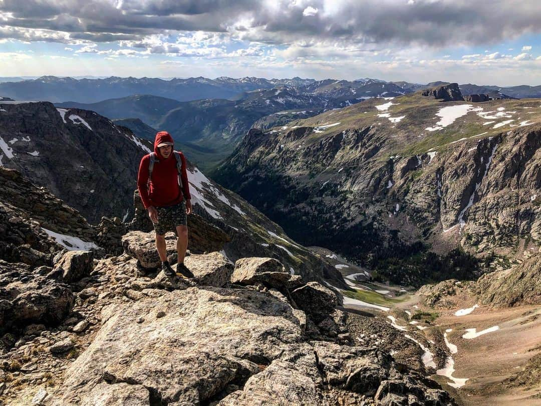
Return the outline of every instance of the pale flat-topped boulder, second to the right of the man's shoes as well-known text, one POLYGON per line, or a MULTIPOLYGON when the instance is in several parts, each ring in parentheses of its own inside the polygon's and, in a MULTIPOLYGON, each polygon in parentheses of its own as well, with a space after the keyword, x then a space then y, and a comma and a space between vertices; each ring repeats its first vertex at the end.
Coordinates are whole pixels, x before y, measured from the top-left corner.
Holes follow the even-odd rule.
POLYGON ((241 258, 235 262, 232 283, 255 285, 262 283, 280 288, 291 278, 281 262, 274 258, 241 258))

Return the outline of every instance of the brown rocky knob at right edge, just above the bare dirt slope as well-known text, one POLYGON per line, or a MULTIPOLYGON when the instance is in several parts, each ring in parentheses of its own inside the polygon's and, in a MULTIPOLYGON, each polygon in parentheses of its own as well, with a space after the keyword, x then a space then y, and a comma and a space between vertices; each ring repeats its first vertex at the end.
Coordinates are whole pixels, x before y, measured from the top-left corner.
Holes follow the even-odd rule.
POLYGON ((541 304, 541 256, 483 275, 477 281, 476 293, 479 303, 496 307, 541 304))

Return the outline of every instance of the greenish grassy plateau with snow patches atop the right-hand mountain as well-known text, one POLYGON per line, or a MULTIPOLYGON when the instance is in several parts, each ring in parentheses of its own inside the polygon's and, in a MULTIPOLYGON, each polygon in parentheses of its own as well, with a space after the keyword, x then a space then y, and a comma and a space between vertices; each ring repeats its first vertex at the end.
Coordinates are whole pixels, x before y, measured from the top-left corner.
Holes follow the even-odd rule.
MULTIPOLYGON (((464 101, 442 103, 430 97, 414 93, 406 96, 395 97, 392 100, 372 99, 340 110, 331 110, 306 120, 296 120, 289 123, 293 126, 317 127, 339 122, 339 125, 322 129, 321 133, 312 133, 296 143, 306 142, 308 145, 319 142, 321 139, 352 128, 366 128, 373 126, 377 132, 393 134, 392 140, 387 143, 385 150, 378 154, 379 159, 388 159, 393 155, 424 154, 429 150, 444 148, 448 143, 462 138, 475 137, 480 139, 505 132, 521 121, 541 121, 541 108, 538 99, 522 100, 492 100, 483 103, 470 103, 464 101), (392 102, 393 105, 385 111, 380 111, 375 106, 392 102), (456 119, 444 129, 430 132, 427 127, 434 127, 440 120, 436 114, 441 108, 470 104, 473 108, 483 108, 483 112, 497 113, 497 108, 504 108, 505 112, 514 112, 511 117, 498 119, 484 119, 477 112, 469 112, 456 119), (524 107, 527 107, 525 109, 524 107), (391 117, 405 116, 398 123, 392 123, 387 117, 378 114, 389 113, 391 117), (514 120, 507 125, 493 128, 499 122, 514 120), (494 121, 491 125, 483 125, 494 121), (486 134, 483 134, 486 133, 486 134), (483 135, 480 135, 483 134, 483 135)), ((275 128, 274 130, 278 129, 275 128)), ((281 133, 288 129, 280 130, 281 133)))

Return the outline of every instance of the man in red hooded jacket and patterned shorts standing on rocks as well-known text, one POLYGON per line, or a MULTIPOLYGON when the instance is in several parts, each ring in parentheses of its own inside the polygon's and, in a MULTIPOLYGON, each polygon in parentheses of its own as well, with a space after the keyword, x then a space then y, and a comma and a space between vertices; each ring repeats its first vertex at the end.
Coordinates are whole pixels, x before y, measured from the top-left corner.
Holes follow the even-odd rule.
POLYGON ((176 241, 178 255, 176 272, 184 277, 193 278, 193 273, 184 265, 184 256, 188 247, 186 215, 192 212, 186 159, 181 152, 173 151, 173 137, 166 131, 156 134, 154 154, 154 157, 147 154, 141 159, 137 188, 143 206, 154 224, 156 249, 162 261, 162 271, 167 276, 175 275, 167 260, 165 234, 176 230, 179 237, 176 241), (175 154, 180 155, 182 163, 180 171, 175 154), (154 165, 151 165, 152 161, 154 165), (151 171, 149 167, 152 167, 151 171))

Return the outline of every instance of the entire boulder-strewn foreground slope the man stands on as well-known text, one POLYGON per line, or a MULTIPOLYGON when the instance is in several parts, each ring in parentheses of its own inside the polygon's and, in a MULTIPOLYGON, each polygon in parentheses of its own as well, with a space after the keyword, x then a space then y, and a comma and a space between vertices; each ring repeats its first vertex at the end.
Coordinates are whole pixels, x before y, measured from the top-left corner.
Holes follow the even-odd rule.
POLYGON ((39 227, 76 234, 91 230, 84 219, 17 172, 0 174, 29 193, 2 195, 6 242, 17 251, 38 238, 55 254, 29 265, 0 252, 2 404, 456 404, 419 363, 395 361, 375 337, 358 343, 341 298, 280 261, 190 253, 195 278, 143 277, 148 234, 123 235, 126 252, 102 259, 69 247, 75 235, 39 227), (25 227, 27 241, 12 239, 25 227))

